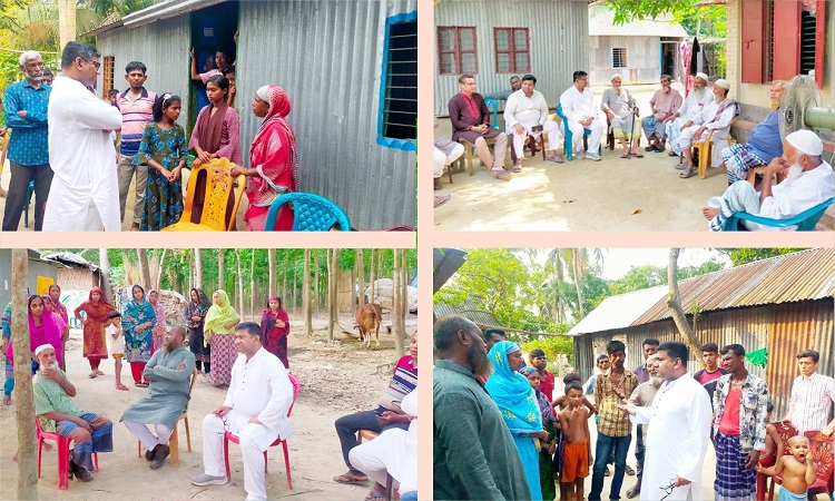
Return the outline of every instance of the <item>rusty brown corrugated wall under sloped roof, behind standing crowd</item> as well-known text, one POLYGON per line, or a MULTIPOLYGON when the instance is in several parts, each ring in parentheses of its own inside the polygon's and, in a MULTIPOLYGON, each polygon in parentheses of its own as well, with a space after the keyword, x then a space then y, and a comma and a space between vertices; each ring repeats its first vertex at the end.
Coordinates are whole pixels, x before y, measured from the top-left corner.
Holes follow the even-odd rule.
MULTIPOLYGON (((757 306, 704 314, 697 324, 703 344, 716 343, 719 348, 738 343, 746 352, 768 347, 766 370, 747 364, 752 374, 764 377, 774 403, 774 419, 782 419, 788 410, 792 382, 799 374, 796 355, 814 348, 821 353, 817 371, 835 376, 833 299, 807 301, 780 305, 757 306)), ((574 369, 583 381, 592 374, 595 358, 606 353, 611 340, 627 345, 626 367, 630 371, 644 363, 641 342, 647 337, 680 341, 672 320, 574 338, 574 369)), ((687 367, 690 374, 701 369, 701 353, 690 353, 687 367)))

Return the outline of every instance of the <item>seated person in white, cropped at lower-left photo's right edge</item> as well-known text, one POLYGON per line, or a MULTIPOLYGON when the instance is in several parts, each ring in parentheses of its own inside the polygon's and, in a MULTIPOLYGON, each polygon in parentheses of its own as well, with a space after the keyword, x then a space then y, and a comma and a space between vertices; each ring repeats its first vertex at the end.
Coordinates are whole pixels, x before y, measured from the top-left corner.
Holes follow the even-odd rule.
MULTIPOLYGON (((381 485, 386 472, 400 484, 397 491, 405 500, 418 491, 418 389, 403 397, 400 407, 413 416, 409 430, 391 428, 376 439, 364 442, 348 453, 351 464, 381 485)), ((418 499, 416 497, 412 499, 418 499)))

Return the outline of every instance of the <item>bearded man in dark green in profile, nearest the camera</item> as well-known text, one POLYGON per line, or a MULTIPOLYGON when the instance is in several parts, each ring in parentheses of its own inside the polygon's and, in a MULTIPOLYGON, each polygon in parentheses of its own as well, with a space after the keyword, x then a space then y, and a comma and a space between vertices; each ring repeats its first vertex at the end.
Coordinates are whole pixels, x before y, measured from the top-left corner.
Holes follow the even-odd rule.
POLYGON ((481 331, 463 316, 445 316, 435 324, 434 345, 434 499, 531 499, 513 436, 479 382, 491 367, 481 331))

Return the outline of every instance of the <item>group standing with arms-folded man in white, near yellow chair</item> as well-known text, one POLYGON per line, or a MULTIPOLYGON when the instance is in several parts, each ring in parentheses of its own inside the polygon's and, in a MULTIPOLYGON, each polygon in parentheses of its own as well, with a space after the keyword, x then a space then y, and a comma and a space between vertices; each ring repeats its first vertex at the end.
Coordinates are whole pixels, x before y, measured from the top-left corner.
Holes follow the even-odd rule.
MULTIPOLYGON (((284 89, 266 85, 255 92, 252 111, 262 125, 245 164, 240 120, 233 107, 235 69, 228 53, 218 51, 218 68, 203 73, 197 72, 191 53, 193 79, 205 85, 209 105, 199 110, 190 135, 177 124, 181 98, 173 91, 147 89, 148 68, 140 61, 125 68, 128 89, 109 92, 108 100, 96 98, 92 86, 100 56, 90 45, 69 42, 58 77, 47 82, 40 53, 20 55, 24 79, 10 85, 4 99, 11 179, 2 229, 18 229, 30 202, 30 183, 36 230, 119 230, 131 183, 134 214, 127 215, 132 218, 131 229, 159 230, 179 222, 184 196, 194 197, 190 222, 199 223, 206 175, 197 178, 194 194, 184 195, 183 169, 189 151, 193 169, 226 158, 234 164, 230 176, 246 176, 246 229, 265 229, 273 200, 299 186, 296 139, 286 119, 291 101, 284 89)), ((227 226, 235 218, 230 193, 227 226)), ((274 229, 292 226, 292 208, 284 206, 274 229)))

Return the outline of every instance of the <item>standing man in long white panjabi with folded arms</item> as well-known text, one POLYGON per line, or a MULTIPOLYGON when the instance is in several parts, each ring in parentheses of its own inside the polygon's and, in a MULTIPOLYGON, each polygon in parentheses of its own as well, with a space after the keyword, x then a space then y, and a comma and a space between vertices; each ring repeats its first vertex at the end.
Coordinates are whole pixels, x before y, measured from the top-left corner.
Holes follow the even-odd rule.
POLYGON ((61 76, 52 84, 47 112, 55 175, 45 232, 120 229, 112 131, 121 127, 121 114, 88 90, 96 84, 100 56, 75 41, 61 53, 61 76))

